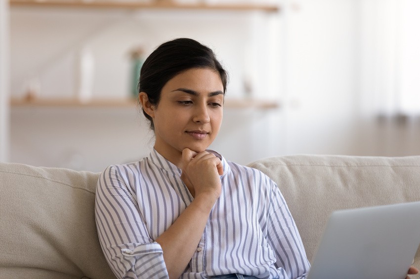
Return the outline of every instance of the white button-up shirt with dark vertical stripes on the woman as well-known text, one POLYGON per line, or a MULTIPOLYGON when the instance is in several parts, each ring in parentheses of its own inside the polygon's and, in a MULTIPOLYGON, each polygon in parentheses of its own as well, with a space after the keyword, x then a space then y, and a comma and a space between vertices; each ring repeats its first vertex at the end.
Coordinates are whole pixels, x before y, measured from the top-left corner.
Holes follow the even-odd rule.
MULTIPOLYGON (((223 165, 222 192, 181 278, 234 273, 306 278, 309 262, 277 185, 260 171, 213 153, 223 165)), ((155 240, 193 200, 180 175, 181 170, 156 150, 139 162, 110 166, 100 175, 96 226, 118 278, 168 278, 155 240)))

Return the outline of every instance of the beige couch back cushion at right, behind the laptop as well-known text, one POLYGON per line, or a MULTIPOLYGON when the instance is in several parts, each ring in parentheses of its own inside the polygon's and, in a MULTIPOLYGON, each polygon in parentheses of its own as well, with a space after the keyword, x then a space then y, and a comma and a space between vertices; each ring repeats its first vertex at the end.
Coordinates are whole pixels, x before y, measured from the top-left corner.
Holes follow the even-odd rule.
MULTIPOLYGON (((280 187, 310 260, 332 211, 420 201, 420 156, 295 155, 250 166, 280 187)), ((415 265, 420 266, 420 249, 415 265)))

